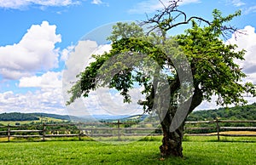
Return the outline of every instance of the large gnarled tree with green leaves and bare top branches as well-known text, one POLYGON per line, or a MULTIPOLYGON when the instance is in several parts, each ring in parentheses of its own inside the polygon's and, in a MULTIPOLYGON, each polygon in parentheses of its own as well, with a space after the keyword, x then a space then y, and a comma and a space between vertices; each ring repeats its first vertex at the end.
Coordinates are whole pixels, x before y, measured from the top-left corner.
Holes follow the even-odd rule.
POLYGON ((149 31, 134 23, 113 26, 112 49, 94 55, 79 81, 69 90, 67 105, 77 98, 87 97, 99 87, 115 88, 131 102, 129 90, 135 84, 143 86, 145 100, 139 100, 144 111, 155 111, 160 117, 164 137, 162 156, 183 156, 183 126, 186 117, 203 100, 218 96, 218 105, 245 104, 242 94, 255 95, 252 83, 243 84, 246 75, 235 60, 244 60, 245 51, 236 52, 236 45, 226 45, 219 37, 227 37, 236 28, 225 23, 240 14, 223 17, 215 9, 213 20, 187 15, 172 1, 154 17, 143 21, 149 31), (183 16, 183 21, 177 22, 183 16), (173 27, 190 24, 192 27, 174 37, 167 37, 173 27), (203 24, 203 26, 200 26, 203 24), (154 63, 154 64, 153 64, 154 63))

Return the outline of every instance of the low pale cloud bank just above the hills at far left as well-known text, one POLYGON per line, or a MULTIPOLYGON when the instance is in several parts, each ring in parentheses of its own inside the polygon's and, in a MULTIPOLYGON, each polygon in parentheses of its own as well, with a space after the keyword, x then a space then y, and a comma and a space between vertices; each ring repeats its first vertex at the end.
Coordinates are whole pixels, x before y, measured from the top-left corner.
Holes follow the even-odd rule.
POLYGON ((26 94, 0 93, 0 111, 67 114, 61 88, 44 88, 26 94))

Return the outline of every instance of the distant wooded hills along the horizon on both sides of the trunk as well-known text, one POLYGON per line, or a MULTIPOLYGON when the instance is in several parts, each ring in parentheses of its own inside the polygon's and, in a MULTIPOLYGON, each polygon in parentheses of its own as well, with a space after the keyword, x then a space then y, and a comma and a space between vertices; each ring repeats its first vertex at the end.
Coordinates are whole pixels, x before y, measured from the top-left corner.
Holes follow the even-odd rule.
MULTIPOLYGON (((135 116, 111 116, 111 115, 92 115, 88 117, 74 117, 68 115, 57 115, 49 113, 20 113, 20 112, 11 112, 11 113, 2 113, 0 114, 0 121, 35 121, 39 120, 42 117, 51 117, 55 119, 83 122, 87 118, 93 120, 129 120, 132 118, 139 117, 140 120, 143 120, 146 116, 140 117, 139 115, 135 116)), ((192 112, 187 121, 203 121, 203 120, 213 120, 216 117, 225 120, 256 120, 256 103, 252 105, 236 106, 232 108, 219 108, 216 110, 205 110, 205 111, 194 111, 192 112)))

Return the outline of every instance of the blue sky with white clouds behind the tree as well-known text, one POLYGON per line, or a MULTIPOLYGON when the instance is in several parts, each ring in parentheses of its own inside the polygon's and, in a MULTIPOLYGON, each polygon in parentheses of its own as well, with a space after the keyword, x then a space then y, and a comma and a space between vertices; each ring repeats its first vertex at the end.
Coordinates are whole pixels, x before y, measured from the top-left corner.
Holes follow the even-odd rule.
MULTIPOLYGON (((245 61, 237 62, 247 74, 243 81, 256 84, 256 1, 183 0, 179 5, 186 14, 207 20, 212 19, 213 9, 224 15, 241 9, 241 16, 230 24, 247 35, 233 34, 224 42, 247 50, 245 61)), ((124 105, 116 103, 121 99, 104 88, 69 107, 65 90, 75 81, 74 72, 82 71, 90 61, 90 54, 109 50, 105 38, 114 23, 145 20, 146 14, 150 17, 162 8, 157 0, 0 0, 0 113, 86 115, 109 114, 111 109, 111 114, 120 114, 117 110, 124 105)), ((183 33, 186 28, 177 27, 170 33, 183 33)), ((131 94, 135 99, 141 97, 139 89, 131 94)), ((197 110, 216 108, 212 97, 212 102, 203 102, 197 110)), ((255 98, 247 100, 256 102, 255 98)), ((137 104, 125 108, 124 114, 137 113, 137 104)))

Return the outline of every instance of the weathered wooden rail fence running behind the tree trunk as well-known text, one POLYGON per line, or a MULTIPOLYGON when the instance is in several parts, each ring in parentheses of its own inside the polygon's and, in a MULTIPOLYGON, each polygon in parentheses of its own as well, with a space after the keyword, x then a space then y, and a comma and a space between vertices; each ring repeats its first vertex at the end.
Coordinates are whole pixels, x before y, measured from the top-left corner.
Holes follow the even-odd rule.
MULTIPOLYGON (((223 131, 256 131, 256 121, 230 121, 213 120, 186 122, 184 135, 189 136, 256 136, 256 134, 222 134, 223 131), (247 123, 249 127, 222 126, 223 123, 247 123), (200 126, 203 125, 203 126, 200 126), (197 133, 193 133, 197 132, 197 133), (199 132, 199 133, 198 133, 199 132), (201 133, 207 132, 207 133, 201 133), (210 133, 210 134, 209 134, 210 133)), ((137 122, 79 122, 79 123, 57 123, 26 126, 0 126, 0 138, 8 141, 14 138, 40 138, 45 140, 51 137, 117 137, 122 136, 156 136, 162 135, 159 123, 137 123, 137 122), (132 127, 137 125, 137 127, 132 127), (27 129, 29 128, 29 129, 27 129)))

